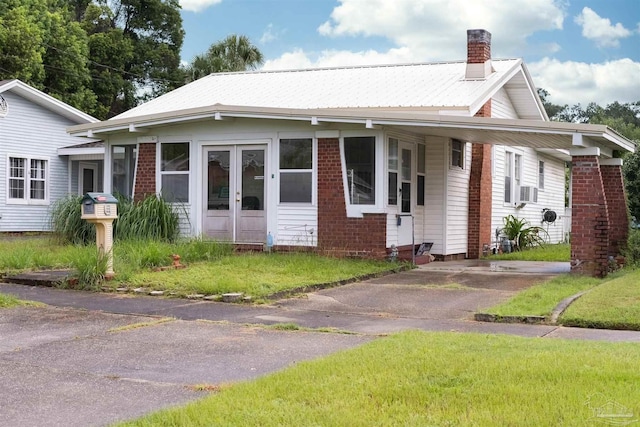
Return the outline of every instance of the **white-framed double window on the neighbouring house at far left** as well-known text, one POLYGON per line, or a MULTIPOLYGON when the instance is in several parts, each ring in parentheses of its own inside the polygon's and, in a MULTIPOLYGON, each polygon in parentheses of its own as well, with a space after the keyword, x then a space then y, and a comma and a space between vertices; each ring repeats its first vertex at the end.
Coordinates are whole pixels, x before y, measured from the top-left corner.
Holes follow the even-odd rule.
POLYGON ((46 204, 48 202, 48 161, 9 157, 8 203, 46 204))

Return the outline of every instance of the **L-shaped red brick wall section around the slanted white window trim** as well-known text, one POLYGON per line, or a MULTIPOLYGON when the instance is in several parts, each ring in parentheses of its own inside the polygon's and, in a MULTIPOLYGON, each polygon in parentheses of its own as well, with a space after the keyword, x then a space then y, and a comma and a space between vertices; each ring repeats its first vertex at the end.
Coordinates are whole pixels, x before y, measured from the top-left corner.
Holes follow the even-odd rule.
POLYGON ((347 218, 339 141, 318 139, 318 250, 334 256, 384 258, 386 235, 386 214, 347 218))

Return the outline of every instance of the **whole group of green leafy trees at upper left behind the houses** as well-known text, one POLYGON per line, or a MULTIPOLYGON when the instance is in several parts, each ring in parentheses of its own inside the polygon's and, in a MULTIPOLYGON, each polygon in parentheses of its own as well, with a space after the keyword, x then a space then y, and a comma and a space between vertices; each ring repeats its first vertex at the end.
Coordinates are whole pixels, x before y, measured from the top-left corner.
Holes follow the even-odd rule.
POLYGON ((105 119, 184 84, 178 0, 2 0, 0 79, 105 119))

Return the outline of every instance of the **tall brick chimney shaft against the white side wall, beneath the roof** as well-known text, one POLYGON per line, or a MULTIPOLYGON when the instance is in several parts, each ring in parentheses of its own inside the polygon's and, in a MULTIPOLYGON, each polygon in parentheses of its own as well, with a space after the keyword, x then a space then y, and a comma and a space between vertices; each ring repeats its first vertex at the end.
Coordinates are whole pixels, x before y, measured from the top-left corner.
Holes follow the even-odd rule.
MULTIPOLYGON (((491 100, 476 113, 476 117, 491 117, 491 100)), ((491 145, 471 145, 469 176, 469 212, 467 230, 467 258, 478 259, 482 246, 491 244, 491 145)))

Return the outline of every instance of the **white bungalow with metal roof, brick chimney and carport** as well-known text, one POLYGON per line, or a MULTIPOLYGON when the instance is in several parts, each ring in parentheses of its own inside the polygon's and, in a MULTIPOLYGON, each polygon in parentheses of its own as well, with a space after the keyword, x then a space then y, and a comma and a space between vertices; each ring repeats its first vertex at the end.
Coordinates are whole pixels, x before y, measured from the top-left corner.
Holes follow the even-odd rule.
POLYGON ((550 122, 522 60, 491 59, 490 40, 469 30, 458 62, 212 74, 69 132, 104 140, 105 191, 162 193, 193 236, 477 258, 513 214, 559 242, 565 162, 615 166, 634 146, 550 122))

